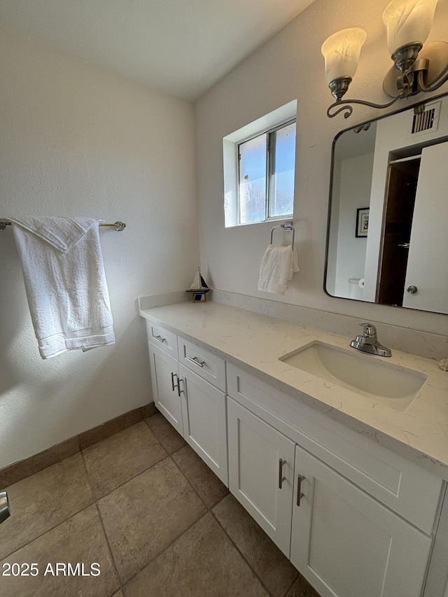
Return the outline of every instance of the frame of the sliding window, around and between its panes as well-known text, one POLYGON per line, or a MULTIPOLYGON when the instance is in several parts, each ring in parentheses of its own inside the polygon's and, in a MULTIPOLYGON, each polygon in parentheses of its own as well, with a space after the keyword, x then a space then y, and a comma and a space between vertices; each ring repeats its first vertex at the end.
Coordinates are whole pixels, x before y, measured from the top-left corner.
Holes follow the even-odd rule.
MULTIPOLYGON (((284 220, 286 218, 293 218, 292 213, 282 213, 279 216, 269 216, 270 206, 272 204, 272 174, 275 174, 274 171, 274 160, 276 154, 275 143, 272 143, 272 134, 276 131, 288 127, 289 125, 295 124, 295 134, 297 135, 297 117, 290 118, 289 120, 285 120, 278 125, 273 127, 269 127, 265 130, 261 130, 256 134, 251 134, 244 139, 238 141, 237 145, 237 225, 250 225, 250 224, 259 224, 262 222, 272 222, 274 220, 284 220), (265 218, 262 220, 255 220, 254 222, 242 222, 241 223, 241 152, 240 147, 251 141, 252 139, 257 139, 260 136, 266 135, 266 157, 265 157, 265 172, 266 172, 266 183, 265 183, 265 218), (273 146, 273 147, 272 147, 273 146)), ((295 158, 295 149, 294 149, 294 158, 295 158)), ((294 185, 295 186, 295 185, 294 185)), ((294 205, 293 205, 294 211, 294 205)))

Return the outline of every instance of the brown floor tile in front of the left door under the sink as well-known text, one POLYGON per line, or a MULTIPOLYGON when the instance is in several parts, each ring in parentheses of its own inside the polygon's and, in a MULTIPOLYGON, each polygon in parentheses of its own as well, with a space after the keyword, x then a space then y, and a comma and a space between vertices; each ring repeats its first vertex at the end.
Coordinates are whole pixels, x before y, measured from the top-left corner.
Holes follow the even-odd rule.
POLYGON ((298 575, 286 556, 233 496, 212 512, 272 597, 283 597, 298 575))

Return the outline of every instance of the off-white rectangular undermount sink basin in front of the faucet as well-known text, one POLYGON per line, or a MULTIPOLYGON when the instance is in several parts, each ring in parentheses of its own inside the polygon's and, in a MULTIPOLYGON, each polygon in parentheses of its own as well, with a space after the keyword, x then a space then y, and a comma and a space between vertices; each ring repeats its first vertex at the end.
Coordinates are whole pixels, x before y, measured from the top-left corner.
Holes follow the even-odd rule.
POLYGON ((405 411, 427 379, 423 372, 394 365, 382 357, 312 342, 280 359, 374 402, 405 411))

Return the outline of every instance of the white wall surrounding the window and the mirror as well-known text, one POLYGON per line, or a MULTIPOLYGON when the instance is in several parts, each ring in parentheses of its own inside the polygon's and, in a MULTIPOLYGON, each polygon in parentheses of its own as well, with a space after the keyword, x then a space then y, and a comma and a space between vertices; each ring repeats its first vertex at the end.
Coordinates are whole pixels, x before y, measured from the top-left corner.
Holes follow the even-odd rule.
MULTIPOLYGON (((364 27, 367 41, 347 95, 386 102, 382 79, 392 63, 381 13, 387 3, 388 0, 380 3, 316 0, 197 101, 202 269, 212 285, 221 290, 442 333, 448 331, 445 316, 337 299, 323 292, 332 139, 339 130, 385 111, 355 106, 349 120, 342 115, 327 118, 326 109, 332 96, 325 83, 321 44, 338 29, 364 27), (267 295, 258 292, 257 281, 271 225, 224 227, 222 140, 223 136, 295 98, 294 223, 301 271, 295 274, 284 296, 267 295)), ((447 24, 448 2, 443 0, 437 6, 430 39, 446 38, 447 24)), ((447 91, 448 85, 439 92, 443 90, 447 91)), ((399 104, 402 107, 405 102, 399 104)))

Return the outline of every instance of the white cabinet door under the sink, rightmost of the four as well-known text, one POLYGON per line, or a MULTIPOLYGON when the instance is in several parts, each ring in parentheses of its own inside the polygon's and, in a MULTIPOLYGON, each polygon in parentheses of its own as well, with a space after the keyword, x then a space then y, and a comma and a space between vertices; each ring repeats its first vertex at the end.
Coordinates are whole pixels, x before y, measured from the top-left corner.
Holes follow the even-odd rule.
POLYGON ((419 597, 430 538, 300 447, 295 468, 290 559, 318 593, 419 597))

